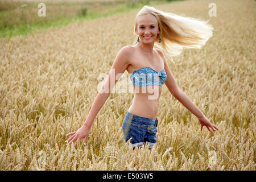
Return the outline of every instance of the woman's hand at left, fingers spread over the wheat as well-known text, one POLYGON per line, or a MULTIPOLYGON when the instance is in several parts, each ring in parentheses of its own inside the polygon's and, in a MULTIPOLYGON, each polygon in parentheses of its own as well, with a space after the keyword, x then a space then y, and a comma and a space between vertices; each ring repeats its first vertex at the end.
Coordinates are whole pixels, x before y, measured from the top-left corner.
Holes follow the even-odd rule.
MULTIPOLYGON (((90 127, 88 127, 86 125, 82 125, 82 127, 80 127, 80 129, 78 129, 77 131, 74 131, 72 133, 67 134, 66 136, 71 135, 71 137, 69 139, 67 139, 65 142, 68 142, 68 144, 71 144, 76 139, 80 140, 80 139, 84 138, 83 143, 85 144, 89 133, 90 133, 90 127)), ((76 147, 77 140, 76 140, 76 143, 75 143, 74 147, 76 147)))

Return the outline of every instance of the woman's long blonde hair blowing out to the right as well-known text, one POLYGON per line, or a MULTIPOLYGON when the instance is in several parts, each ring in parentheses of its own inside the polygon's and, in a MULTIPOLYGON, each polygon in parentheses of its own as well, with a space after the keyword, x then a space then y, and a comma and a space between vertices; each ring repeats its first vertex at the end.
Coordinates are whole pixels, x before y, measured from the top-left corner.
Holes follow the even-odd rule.
POLYGON ((183 48, 201 48, 212 36, 213 27, 208 21, 184 17, 173 13, 165 13, 152 6, 144 6, 135 18, 134 34, 138 28, 137 19, 151 14, 158 20, 162 42, 159 35, 154 46, 162 49, 164 54, 172 60, 172 56, 179 56, 183 48))

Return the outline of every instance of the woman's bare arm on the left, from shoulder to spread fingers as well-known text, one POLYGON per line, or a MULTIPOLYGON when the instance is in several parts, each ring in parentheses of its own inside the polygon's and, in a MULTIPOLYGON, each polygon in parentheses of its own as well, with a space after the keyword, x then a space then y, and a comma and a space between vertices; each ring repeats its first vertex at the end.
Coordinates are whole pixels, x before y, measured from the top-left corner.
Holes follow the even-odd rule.
MULTIPOLYGON (((66 136, 71 135, 71 137, 68 140, 66 140, 66 142, 69 142, 69 144, 71 144, 76 139, 80 140, 84 138, 84 143, 85 143, 89 135, 90 128, 92 127, 94 118, 96 117, 101 107, 105 104, 106 100, 110 96, 110 93, 112 92, 112 89, 114 88, 115 83, 118 81, 119 77, 122 76, 123 72, 125 72, 126 68, 130 64, 130 61, 129 61, 130 51, 131 51, 130 47, 125 46, 121 48, 121 50, 118 52, 117 56, 115 57, 112 68, 110 69, 109 75, 106 78, 101 90, 98 92, 92 104, 92 107, 90 108, 86 121, 84 122, 82 127, 80 127, 79 130, 66 135, 66 136)), ((75 143, 75 146, 76 144, 77 144, 77 141, 75 143)))

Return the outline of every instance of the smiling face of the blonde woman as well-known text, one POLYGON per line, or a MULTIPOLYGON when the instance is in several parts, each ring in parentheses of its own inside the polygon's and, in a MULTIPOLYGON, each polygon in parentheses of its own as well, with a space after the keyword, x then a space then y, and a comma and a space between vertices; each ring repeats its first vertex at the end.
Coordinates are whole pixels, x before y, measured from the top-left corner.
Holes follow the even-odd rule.
POLYGON ((158 20, 151 14, 143 15, 137 19, 137 35, 143 43, 154 43, 160 34, 158 20))

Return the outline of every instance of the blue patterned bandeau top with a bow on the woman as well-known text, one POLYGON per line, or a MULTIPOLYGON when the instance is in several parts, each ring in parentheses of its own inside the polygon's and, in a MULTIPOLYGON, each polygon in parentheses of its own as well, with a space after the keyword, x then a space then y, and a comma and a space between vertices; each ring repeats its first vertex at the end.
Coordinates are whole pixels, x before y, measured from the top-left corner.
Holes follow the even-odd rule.
POLYGON ((143 67, 141 69, 136 69, 131 75, 130 80, 133 85, 136 86, 150 86, 150 85, 160 85, 162 86, 166 81, 167 75, 165 69, 160 72, 155 71, 151 67, 143 67), (158 81, 160 77, 160 81, 158 81))

